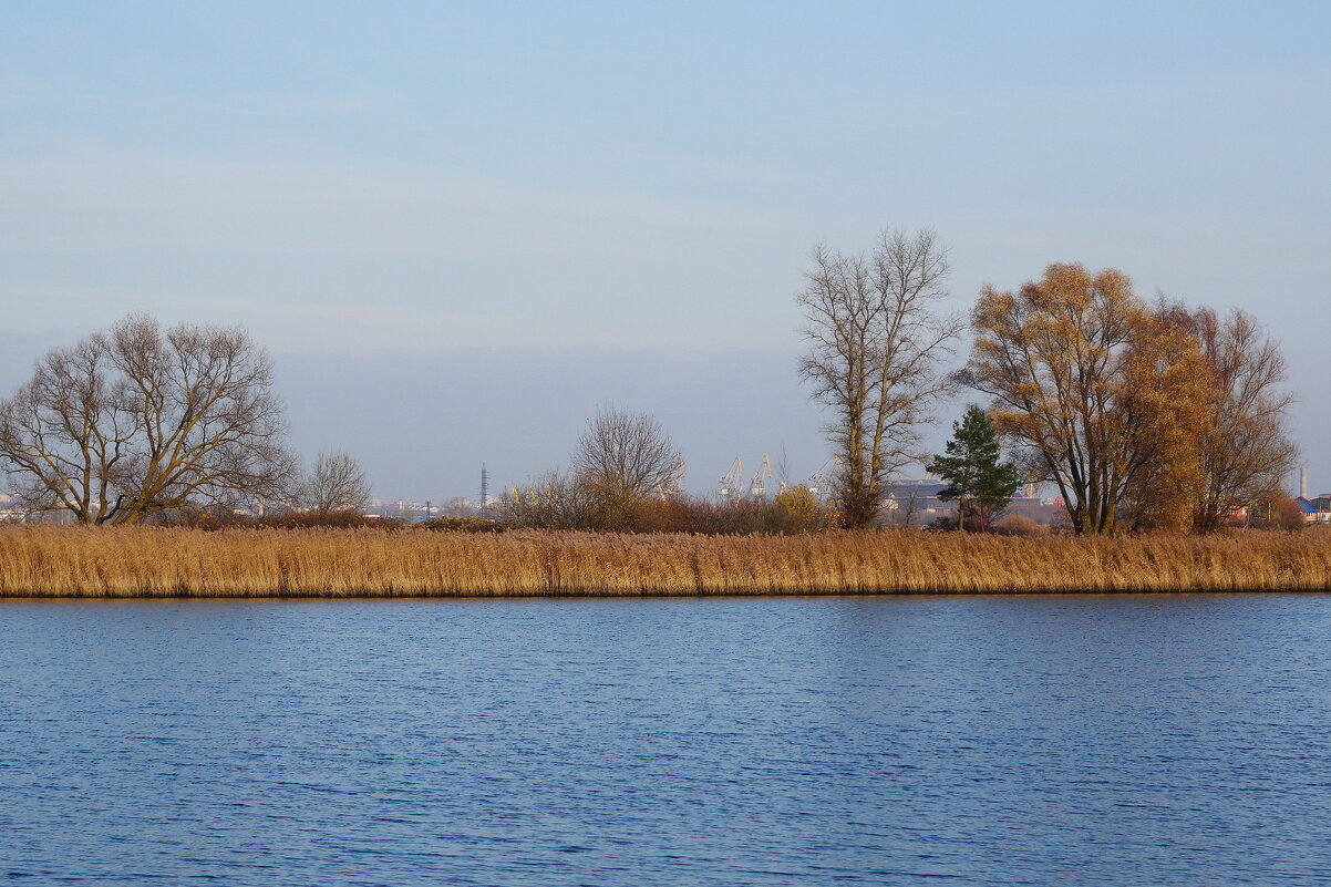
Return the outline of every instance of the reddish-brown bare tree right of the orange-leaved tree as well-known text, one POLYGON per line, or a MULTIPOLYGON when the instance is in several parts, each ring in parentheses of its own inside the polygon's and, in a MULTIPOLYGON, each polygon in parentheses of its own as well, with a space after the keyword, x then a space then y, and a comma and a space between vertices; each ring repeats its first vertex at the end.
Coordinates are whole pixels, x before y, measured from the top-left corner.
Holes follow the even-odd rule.
POLYGON ((1195 338, 1211 370, 1214 421, 1203 429, 1205 487, 1195 505, 1199 530, 1221 526, 1226 513, 1268 498, 1294 470, 1299 449, 1290 438, 1284 390, 1288 365, 1279 344, 1255 317, 1234 309, 1181 302, 1159 306, 1162 318, 1195 338))

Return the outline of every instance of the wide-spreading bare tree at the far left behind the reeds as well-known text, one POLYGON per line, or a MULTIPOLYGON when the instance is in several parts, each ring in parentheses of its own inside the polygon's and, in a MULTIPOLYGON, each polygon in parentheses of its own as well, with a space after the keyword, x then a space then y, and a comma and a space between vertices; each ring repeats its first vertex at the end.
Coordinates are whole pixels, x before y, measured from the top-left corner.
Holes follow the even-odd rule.
POLYGON ((126 317, 37 362, 0 402, 0 462, 31 510, 137 523, 289 489, 272 361, 241 329, 126 317))

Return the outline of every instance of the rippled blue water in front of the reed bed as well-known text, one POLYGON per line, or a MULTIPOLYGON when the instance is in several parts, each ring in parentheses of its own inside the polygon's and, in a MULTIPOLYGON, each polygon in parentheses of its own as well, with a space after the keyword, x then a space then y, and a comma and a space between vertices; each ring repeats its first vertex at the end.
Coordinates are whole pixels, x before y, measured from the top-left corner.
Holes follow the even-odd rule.
POLYGON ((0 603, 0 880, 1322 884, 1331 598, 0 603))

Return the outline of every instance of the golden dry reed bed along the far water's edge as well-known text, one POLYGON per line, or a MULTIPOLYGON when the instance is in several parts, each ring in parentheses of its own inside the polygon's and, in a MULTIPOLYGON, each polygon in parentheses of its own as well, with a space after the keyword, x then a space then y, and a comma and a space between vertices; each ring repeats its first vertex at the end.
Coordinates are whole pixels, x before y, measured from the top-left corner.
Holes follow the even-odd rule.
POLYGON ((5 597, 1331 590, 1331 539, 0 527, 5 597))

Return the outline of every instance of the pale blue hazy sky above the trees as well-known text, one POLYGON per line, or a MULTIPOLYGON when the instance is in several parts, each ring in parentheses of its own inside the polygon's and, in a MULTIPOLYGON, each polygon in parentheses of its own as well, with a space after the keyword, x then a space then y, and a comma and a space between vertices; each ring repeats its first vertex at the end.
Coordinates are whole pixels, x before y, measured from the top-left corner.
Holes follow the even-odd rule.
MULTIPOLYGON (((689 486, 827 458, 809 248, 1050 261, 1256 313, 1331 489, 1331 4, 0 7, 0 394, 128 312, 244 324, 385 498, 564 461, 616 401, 689 486)), ((961 402, 945 416, 938 444, 961 402)))

